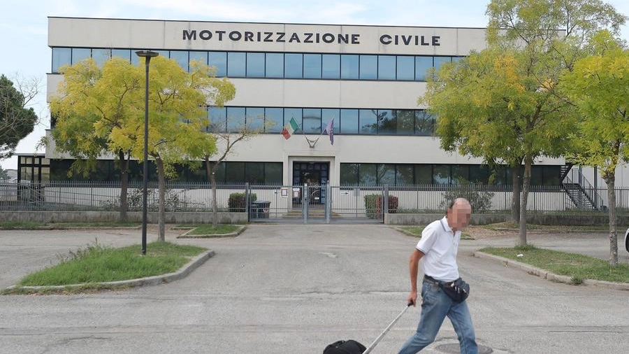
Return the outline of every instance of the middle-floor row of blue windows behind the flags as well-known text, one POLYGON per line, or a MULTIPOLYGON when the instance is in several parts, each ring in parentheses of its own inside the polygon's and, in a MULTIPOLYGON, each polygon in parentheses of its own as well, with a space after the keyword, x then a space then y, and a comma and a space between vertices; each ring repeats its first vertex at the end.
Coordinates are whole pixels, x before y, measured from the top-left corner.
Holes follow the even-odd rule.
POLYGON ((418 109, 210 107, 209 132, 238 132, 248 125, 271 134, 294 118, 297 133, 321 134, 334 119, 334 134, 430 136, 435 118, 418 109))

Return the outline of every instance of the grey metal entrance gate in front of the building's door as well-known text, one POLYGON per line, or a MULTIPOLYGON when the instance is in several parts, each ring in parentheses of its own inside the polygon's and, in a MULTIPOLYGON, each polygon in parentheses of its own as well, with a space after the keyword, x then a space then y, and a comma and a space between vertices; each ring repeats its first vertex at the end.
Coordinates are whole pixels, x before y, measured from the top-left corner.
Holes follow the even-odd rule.
POLYGON ((252 222, 383 222, 386 187, 247 185, 252 222))

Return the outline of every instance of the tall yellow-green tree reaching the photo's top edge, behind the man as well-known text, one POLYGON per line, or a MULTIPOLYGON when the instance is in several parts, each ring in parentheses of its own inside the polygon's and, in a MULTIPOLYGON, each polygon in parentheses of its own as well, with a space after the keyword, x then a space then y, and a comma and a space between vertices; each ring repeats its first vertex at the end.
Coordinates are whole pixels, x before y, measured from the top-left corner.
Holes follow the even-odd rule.
POLYGON ((617 30, 626 19, 598 0, 492 0, 486 13, 488 48, 444 66, 428 83, 423 101, 438 115, 442 139, 454 141, 451 149, 513 167, 521 158, 519 243, 524 245, 533 161, 564 155, 570 146, 565 132, 572 131, 577 118, 556 90, 559 76, 584 56, 593 31, 617 30), (467 71, 468 77, 457 78, 458 71, 461 76, 467 71), (449 108, 448 99, 461 102, 449 108))

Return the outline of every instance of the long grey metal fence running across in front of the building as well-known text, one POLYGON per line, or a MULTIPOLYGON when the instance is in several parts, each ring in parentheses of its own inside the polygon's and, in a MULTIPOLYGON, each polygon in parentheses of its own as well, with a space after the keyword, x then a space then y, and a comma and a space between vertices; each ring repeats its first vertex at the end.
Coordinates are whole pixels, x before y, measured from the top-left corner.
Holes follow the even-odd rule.
MULTIPOLYGON (((1 210, 46 211, 117 211, 120 208, 120 183, 47 182, 0 183, 1 210)), ((597 195, 600 210, 607 206, 607 189, 584 189, 597 195)), ((511 209, 512 190, 496 185, 406 185, 386 186, 303 186, 303 185, 217 185, 216 201, 219 211, 245 211, 245 193, 255 194, 254 200, 265 201, 268 217, 295 216, 295 209, 306 203, 310 212, 323 209, 331 202, 331 213, 341 217, 369 217, 380 206, 373 198, 389 195, 389 211, 424 213, 443 211, 445 201, 466 197, 472 201, 475 213, 496 213, 511 209), (308 188, 308 199, 303 190, 308 188), (312 194, 312 195, 310 195, 312 194), (234 197, 236 196, 236 197, 234 197)), ((157 210, 157 183, 148 186, 148 208, 157 210)), ((561 185, 532 186, 528 195, 529 211, 586 211, 577 205, 561 185)), ((131 184, 128 190, 129 211, 142 207, 142 185, 131 184)), ((616 206, 629 209, 629 188, 616 189, 616 206)), ((167 211, 210 211, 212 188, 208 183, 167 183, 167 211)), ((592 209, 589 209, 592 211, 592 209)))

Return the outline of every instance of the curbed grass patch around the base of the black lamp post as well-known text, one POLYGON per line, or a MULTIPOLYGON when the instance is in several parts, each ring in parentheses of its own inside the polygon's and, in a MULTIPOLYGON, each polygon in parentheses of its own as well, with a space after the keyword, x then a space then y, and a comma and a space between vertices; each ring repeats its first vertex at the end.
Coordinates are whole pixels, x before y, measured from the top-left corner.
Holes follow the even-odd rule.
POLYGON ((29 274, 18 286, 71 285, 124 281, 172 273, 205 248, 154 242, 142 255, 139 245, 112 248, 98 242, 59 256, 59 264, 29 274))

